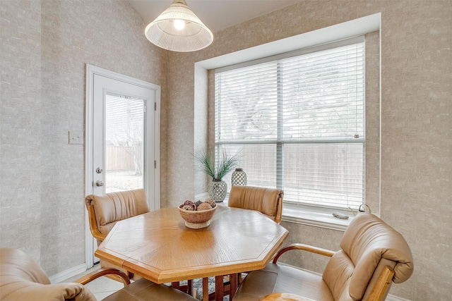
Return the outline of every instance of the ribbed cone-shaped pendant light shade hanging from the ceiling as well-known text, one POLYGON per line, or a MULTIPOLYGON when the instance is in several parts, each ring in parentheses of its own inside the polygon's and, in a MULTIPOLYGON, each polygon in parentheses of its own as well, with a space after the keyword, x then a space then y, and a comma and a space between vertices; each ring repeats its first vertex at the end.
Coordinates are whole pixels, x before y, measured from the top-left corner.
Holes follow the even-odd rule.
POLYGON ((146 26, 144 32, 150 42, 171 51, 196 51, 213 42, 212 32, 191 11, 185 0, 174 0, 169 8, 146 26))

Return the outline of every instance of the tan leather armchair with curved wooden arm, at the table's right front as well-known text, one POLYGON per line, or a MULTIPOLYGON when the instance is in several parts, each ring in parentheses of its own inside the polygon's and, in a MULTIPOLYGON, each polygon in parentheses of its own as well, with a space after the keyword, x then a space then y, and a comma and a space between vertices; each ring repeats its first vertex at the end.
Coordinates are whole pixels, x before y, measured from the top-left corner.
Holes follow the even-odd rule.
POLYGON ((362 213, 352 219, 340 247, 338 252, 302 244, 283 247, 272 263, 246 276, 233 300, 261 300, 272 293, 322 301, 385 300, 392 282, 402 283, 412 274, 407 242, 373 214, 362 213), (281 254, 289 250, 305 250, 331 259, 323 275, 318 275, 278 264, 281 254))

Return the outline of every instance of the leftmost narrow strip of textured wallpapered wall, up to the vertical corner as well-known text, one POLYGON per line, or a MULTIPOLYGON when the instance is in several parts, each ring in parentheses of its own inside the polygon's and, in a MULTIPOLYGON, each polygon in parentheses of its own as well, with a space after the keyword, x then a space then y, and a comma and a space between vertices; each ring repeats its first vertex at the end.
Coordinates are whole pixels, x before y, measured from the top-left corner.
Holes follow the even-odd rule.
MULTIPOLYGON (((41 250, 41 6, 0 2, 0 245, 41 250)), ((84 241, 84 239, 83 239, 84 241)))

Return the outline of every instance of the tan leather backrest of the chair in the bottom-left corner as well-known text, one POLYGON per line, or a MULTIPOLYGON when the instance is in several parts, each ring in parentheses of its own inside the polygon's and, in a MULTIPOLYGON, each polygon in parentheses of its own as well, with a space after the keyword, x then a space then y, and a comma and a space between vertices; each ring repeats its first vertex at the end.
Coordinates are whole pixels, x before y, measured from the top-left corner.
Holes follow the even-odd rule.
POLYGON ((93 293, 80 283, 53 283, 25 252, 0 249, 0 300, 95 301, 93 293))

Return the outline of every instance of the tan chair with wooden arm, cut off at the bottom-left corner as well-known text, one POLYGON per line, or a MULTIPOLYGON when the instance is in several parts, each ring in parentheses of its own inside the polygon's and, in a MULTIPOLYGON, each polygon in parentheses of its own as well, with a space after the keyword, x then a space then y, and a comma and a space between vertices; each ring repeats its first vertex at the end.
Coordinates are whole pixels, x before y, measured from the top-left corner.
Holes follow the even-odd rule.
POLYGON ((99 269, 73 283, 50 283, 42 268, 25 252, 0 249, 0 300, 2 301, 95 301, 93 293, 84 285, 100 276, 120 276, 124 288, 109 295, 104 301, 196 301, 193 297, 166 285, 158 285, 141 278, 130 283, 117 269, 99 269))

